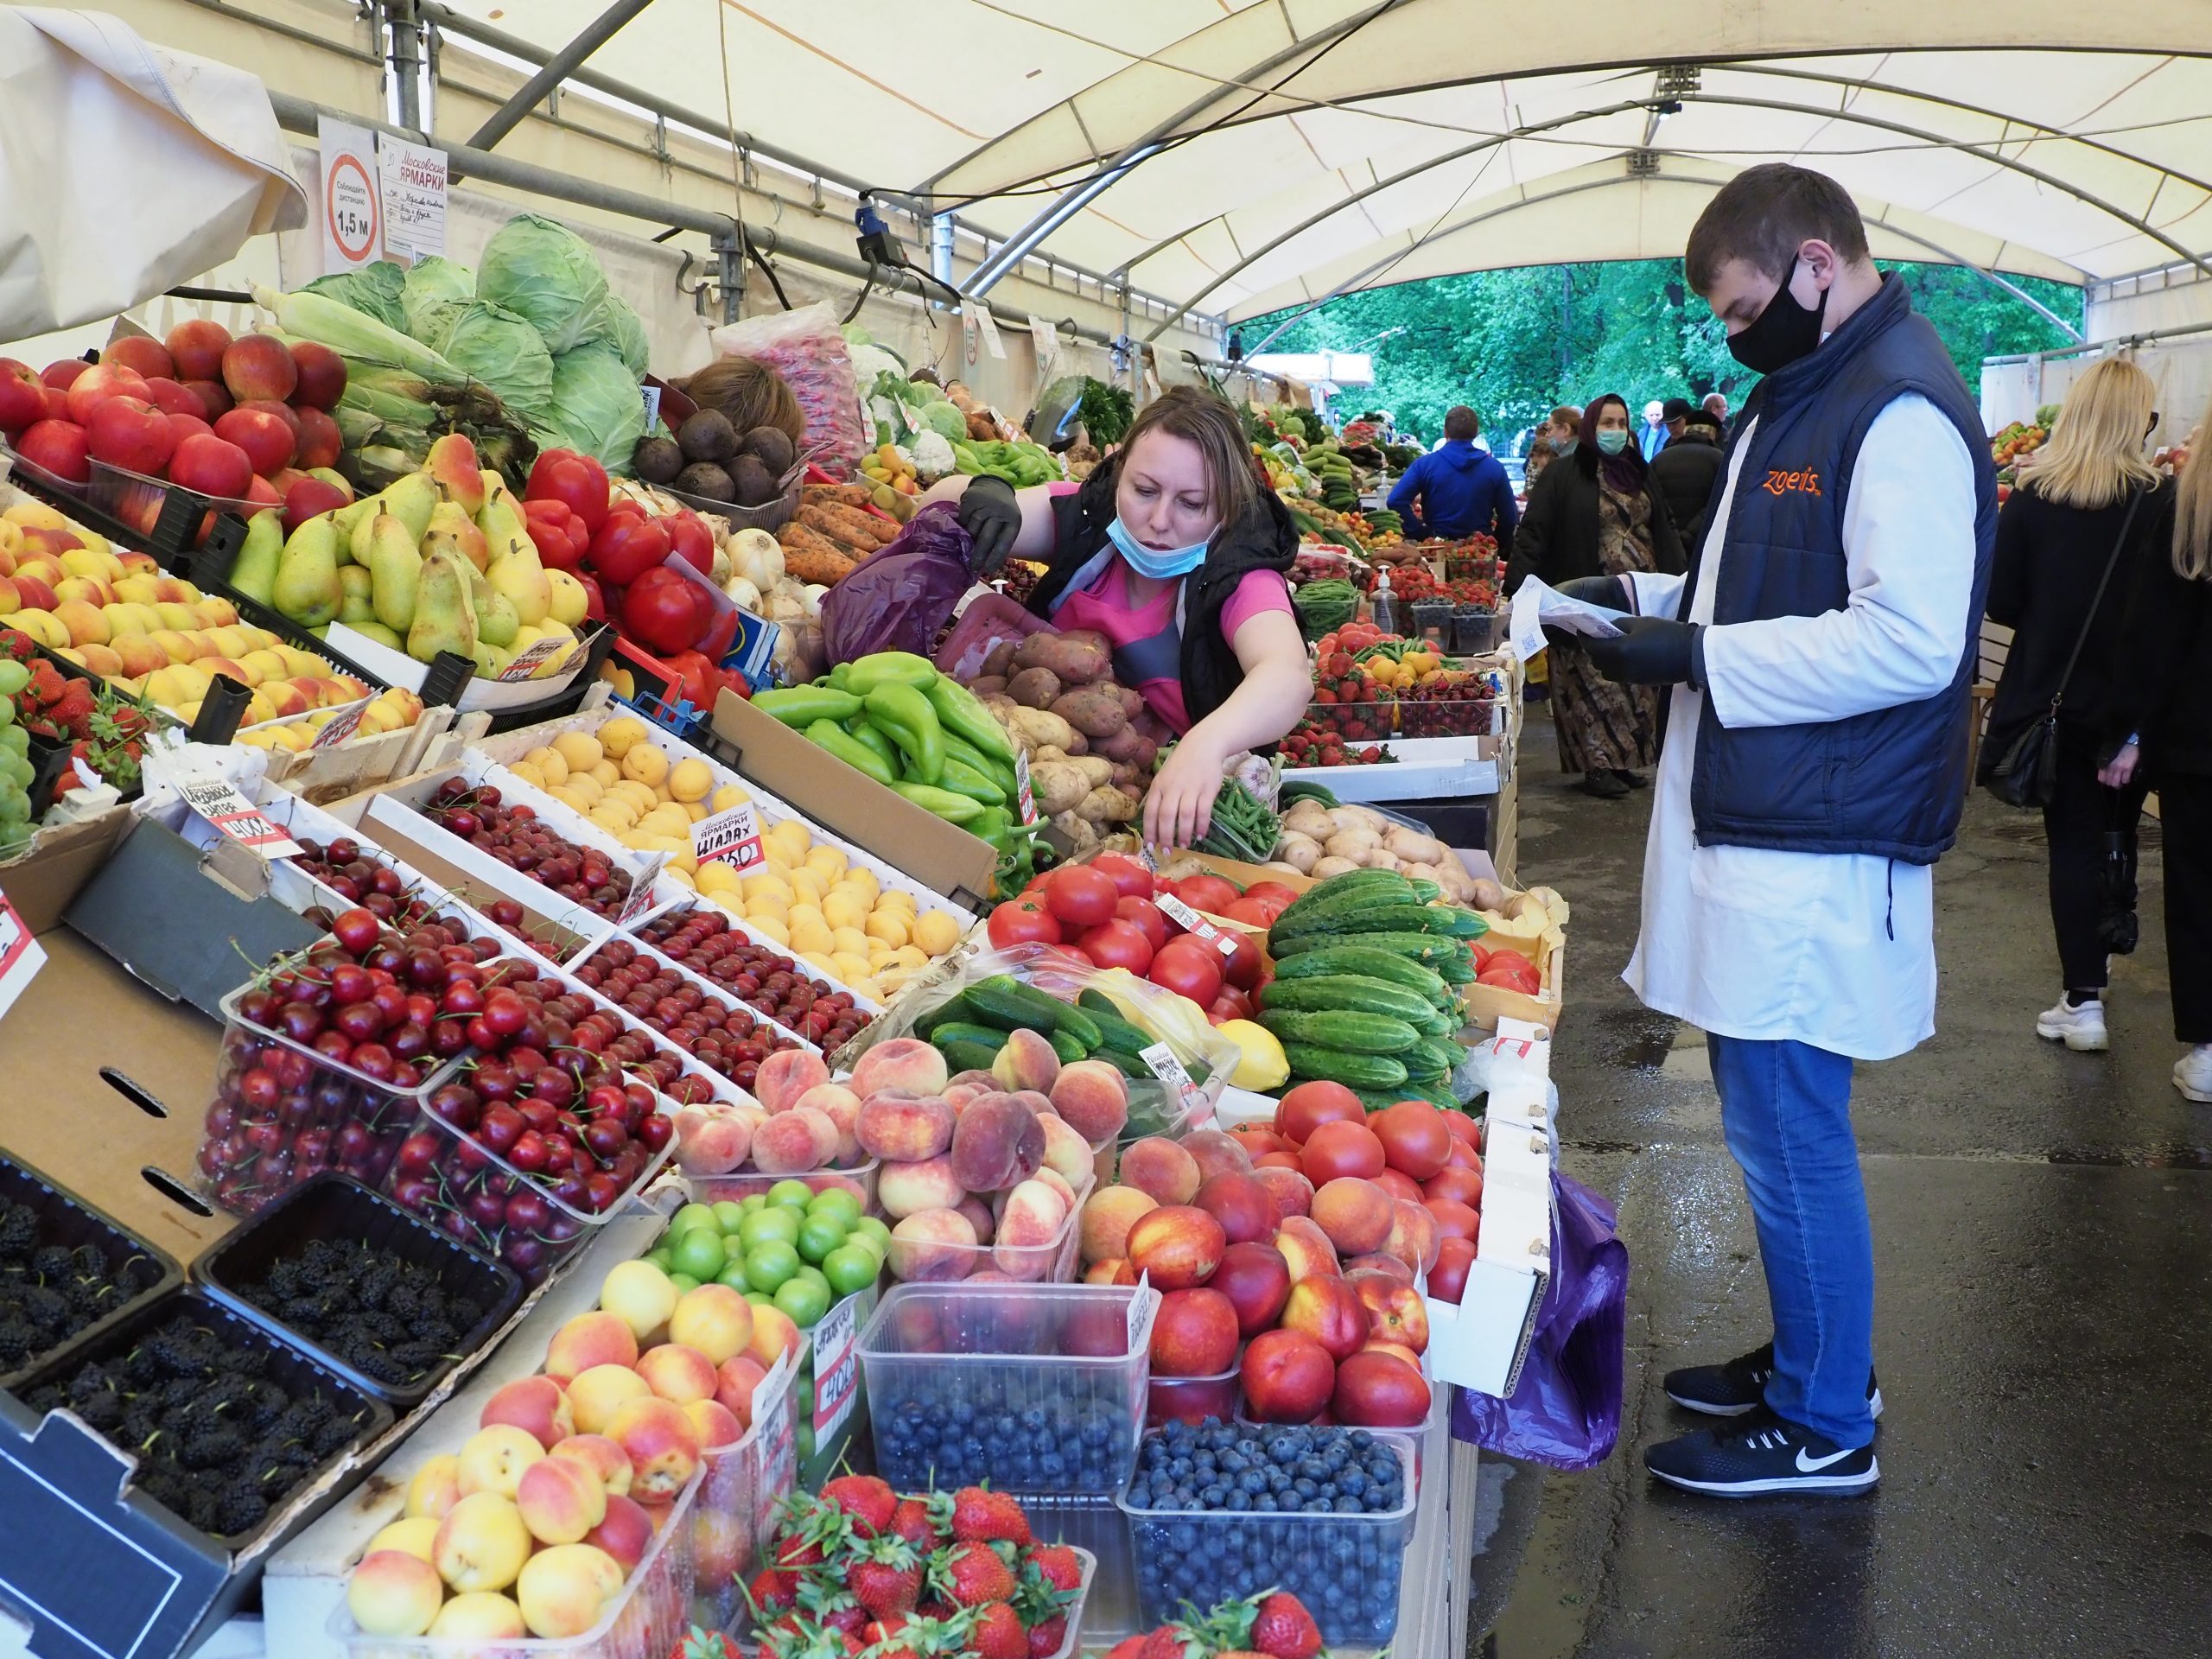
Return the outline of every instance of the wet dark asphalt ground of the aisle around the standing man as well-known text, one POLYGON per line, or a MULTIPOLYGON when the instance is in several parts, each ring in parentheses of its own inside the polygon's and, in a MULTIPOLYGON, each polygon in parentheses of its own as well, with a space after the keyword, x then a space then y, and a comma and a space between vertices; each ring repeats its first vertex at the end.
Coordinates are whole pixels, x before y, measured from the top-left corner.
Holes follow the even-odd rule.
POLYGON ((1858 1066, 1876 1243, 1880 1489, 1714 1502, 1639 1451, 1699 1427, 1659 1389, 1770 1332, 1703 1035, 1619 982, 1650 794, 1593 801, 1528 721, 1520 878, 1573 902, 1553 1051, 1564 1168, 1619 1203, 1628 1398, 1604 1467, 1484 1458, 1484 1659, 2212 1655, 2212 1106, 2168 1071, 2154 825, 2108 1055, 2057 1000, 2035 814, 1975 796, 1936 878, 1938 1035, 1858 1066))

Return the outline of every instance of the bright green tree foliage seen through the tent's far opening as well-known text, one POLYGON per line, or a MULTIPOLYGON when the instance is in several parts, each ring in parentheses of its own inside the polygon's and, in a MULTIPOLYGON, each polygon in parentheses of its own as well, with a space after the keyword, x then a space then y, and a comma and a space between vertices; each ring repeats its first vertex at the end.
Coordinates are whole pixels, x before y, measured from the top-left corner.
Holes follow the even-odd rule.
MULTIPOLYGON (((1966 385, 1982 358, 2066 345, 2051 321, 1955 265, 1887 265, 1936 325, 1966 385)), ((2081 290, 2020 279, 2035 299, 2079 327, 2081 290)), ((1292 312, 1254 316, 1243 338, 1259 343, 1292 312)), ((1743 403, 1756 376, 1728 354, 1719 321, 1688 290, 1679 259, 1579 265, 1517 265, 1345 294, 1294 321, 1270 352, 1367 349, 1371 392, 1360 409, 1389 409, 1402 429, 1433 440, 1455 403, 1482 414, 1491 442, 1517 449, 1517 434, 1555 403, 1619 392, 1743 403), (1385 338, 1376 338, 1376 336, 1385 338)))

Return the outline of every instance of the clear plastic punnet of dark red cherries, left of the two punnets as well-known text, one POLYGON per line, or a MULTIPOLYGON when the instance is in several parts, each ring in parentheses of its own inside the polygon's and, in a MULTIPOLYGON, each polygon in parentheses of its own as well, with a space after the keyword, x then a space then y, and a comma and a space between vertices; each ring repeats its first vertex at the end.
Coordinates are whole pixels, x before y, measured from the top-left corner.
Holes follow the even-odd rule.
POLYGON ((323 1170, 365 1186, 385 1181, 431 1091, 460 1062, 440 1062, 414 1088, 398 1088, 254 1024, 239 1013, 246 991, 221 1002, 223 1044, 199 1141, 208 1197, 250 1217, 323 1170))

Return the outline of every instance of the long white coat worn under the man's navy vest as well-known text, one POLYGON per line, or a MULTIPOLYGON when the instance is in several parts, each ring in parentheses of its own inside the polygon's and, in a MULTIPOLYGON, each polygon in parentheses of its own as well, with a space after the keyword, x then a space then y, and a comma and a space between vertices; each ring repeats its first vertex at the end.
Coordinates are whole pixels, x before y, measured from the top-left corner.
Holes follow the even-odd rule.
MULTIPOLYGON (((1958 672, 1973 604, 1973 460, 1927 398, 1867 429, 1843 551, 1851 597, 1818 617, 1712 624, 1750 434, 1734 447, 1690 622, 1705 690, 1674 686, 1644 849, 1644 931, 1621 975, 1646 1006, 1723 1037, 1796 1040, 1889 1060, 1936 1031, 1933 869, 1871 854, 1701 847, 1697 726, 1834 721, 1933 697, 1958 672)), ((1635 608, 1674 615, 1679 575, 1632 575, 1635 608)))

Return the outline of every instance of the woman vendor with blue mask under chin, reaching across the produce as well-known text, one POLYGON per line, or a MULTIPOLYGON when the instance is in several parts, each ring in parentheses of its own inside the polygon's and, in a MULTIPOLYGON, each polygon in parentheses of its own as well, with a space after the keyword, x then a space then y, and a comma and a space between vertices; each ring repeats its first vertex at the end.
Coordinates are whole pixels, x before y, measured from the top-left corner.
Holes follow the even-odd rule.
POLYGON ((1046 566, 1029 606, 1113 646, 1115 679, 1177 734, 1144 799, 1144 836, 1188 847, 1232 754, 1279 741, 1314 695, 1285 573, 1298 531, 1252 467, 1237 411, 1175 387, 1082 484, 947 478, 973 568, 1046 566))

